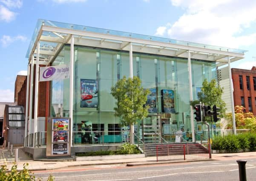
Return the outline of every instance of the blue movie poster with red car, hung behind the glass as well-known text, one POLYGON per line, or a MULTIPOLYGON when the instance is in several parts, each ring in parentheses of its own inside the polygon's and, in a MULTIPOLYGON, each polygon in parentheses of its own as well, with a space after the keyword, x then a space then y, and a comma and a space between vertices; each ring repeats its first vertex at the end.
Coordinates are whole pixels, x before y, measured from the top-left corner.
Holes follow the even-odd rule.
POLYGON ((80 79, 81 83, 81 108, 98 107, 98 84, 94 79, 80 79))

